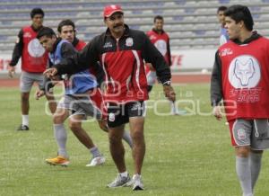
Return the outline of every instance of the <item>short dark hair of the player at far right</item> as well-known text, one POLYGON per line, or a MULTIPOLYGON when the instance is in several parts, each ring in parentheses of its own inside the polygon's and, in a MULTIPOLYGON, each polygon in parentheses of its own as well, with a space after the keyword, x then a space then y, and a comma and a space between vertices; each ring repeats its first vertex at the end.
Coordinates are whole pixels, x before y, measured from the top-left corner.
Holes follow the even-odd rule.
POLYGON ((254 22, 247 6, 241 4, 231 5, 224 12, 224 15, 229 16, 232 20, 234 20, 237 23, 243 21, 248 31, 253 30, 254 22))

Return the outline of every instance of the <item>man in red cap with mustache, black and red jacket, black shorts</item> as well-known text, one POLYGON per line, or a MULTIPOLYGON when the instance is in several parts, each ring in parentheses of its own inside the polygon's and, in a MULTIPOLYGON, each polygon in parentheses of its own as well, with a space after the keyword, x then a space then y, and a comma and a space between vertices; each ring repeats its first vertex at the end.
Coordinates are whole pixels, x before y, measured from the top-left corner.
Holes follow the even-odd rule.
POLYGON ((48 77, 72 74, 100 61, 106 78, 104 98, 108 105, 109 148, 119 173, 108 187, 133 184, 134 191, 143 190, 144 101, 148 99, 143 60, 152 63, 163 85, 164 94, 174 101, 175 92, 170 85, 171 73, 165 59, 144 32, 131 30, 125 24, 124 13, 119 5, 106 6, 103 16, 108 27, 106 32, 93 38, 80 53, 66 58, 44 74, 48 77), (127 122, 134 144, 133 179, 126 170, 125 148, 122 143, 127 122))

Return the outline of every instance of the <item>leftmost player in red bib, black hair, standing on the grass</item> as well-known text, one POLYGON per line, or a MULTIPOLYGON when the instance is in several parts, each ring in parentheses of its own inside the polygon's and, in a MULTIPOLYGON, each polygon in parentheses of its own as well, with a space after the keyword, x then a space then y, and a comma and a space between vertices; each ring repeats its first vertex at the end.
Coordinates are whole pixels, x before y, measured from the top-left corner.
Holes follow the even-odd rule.
MULTIPOLYGON (((17 130, 29 130, 29 95, 33 83, 38 83, 39 87, 43 83, 42 73, 45 71, 48 63, 48 53, 39 44, 36 36, 43 27, 44 12, 40 8, 34 8, 30 12, 31 25, 25 26, 18 34, 13 57, 9 64, 8 74, 13 77, 15 66, 22 58, 22 75, 21 75, 21 104, 22 104, 22 124, 17 130)), ((46 95, 49 101, 49 109, 52 113, 56 110, 56 102, 50 94, 46 95)))

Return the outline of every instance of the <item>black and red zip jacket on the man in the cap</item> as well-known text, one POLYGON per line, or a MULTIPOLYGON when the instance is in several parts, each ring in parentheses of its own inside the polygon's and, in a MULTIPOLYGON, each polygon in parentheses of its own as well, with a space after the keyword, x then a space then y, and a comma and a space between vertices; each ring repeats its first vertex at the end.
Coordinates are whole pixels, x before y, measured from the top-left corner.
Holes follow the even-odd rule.
POLYGON ((105 71, 107 102, 125 103, 148 99, 143 60, 152 63, 161 83, 171 74, 165 59, 143 31, 130 30, 116 40, 109 30, 96 36, 73 57, 56 65, 58 74, 74 74, 100 61, 105 71))

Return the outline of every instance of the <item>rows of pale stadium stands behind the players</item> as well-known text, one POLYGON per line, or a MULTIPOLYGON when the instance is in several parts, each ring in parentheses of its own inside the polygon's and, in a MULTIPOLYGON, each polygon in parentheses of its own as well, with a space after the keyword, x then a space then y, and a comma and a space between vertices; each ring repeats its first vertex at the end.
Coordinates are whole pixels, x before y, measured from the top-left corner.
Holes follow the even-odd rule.
POLYGON ((121 4, 126 23, 142 31, 152 29, 152 18, 161 14, 169 32, 171 49, 213 49, 219 45, 216 9, 221 4, 246 4, 254 15, 255 28, 269 36, 268 0, 2 0, 0 1, 0 51, 11 53, 20 28, 30 23, 30 10, 41 7, 46 12, 45 25, 56 29, 63 19, 77 25, 78 37, 91 38, 105 30, 102 9, 106 4, 121 4))

